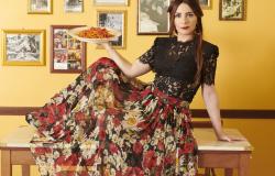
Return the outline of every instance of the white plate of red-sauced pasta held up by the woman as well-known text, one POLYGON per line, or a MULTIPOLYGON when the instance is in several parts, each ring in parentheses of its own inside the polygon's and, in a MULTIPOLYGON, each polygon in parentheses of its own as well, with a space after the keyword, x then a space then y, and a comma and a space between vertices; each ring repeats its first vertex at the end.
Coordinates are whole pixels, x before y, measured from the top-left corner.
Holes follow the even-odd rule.
POLYGON ((108 29, 108 28, 97 28, 97 26, 80 26, 68 30, 68 35, 75 37, 81 42, 88 43, 103 43, 109 41, 116 41, 121 32, 108 29))

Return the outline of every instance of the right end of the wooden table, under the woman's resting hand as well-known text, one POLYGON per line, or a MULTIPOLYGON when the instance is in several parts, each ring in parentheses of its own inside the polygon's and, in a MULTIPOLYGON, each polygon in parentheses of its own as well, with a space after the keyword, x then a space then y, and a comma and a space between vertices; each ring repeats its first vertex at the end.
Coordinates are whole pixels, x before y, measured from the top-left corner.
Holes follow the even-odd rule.
MULTIPOLYGON (((227 134, 243 138, 237 129, 224 129, 227 134)), ((249 163, 252 145, 248 140, 235 142, 217 141, 212 129, 195 129, 198 142, 198 165, 202 168, 224 168, 226 176, 233 175, 233 168, 239 176, 249 176, 249 163)))

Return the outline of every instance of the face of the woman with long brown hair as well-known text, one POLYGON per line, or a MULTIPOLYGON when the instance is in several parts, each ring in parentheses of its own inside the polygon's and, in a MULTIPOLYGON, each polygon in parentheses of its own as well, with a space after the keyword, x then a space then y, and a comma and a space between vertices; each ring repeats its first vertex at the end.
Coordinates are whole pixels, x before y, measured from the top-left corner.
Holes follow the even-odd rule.
POLYGON ((180 3, 175 13, 175 28, 178 37, 193 37, 196 30, 197 16, 186 3, 180 3))

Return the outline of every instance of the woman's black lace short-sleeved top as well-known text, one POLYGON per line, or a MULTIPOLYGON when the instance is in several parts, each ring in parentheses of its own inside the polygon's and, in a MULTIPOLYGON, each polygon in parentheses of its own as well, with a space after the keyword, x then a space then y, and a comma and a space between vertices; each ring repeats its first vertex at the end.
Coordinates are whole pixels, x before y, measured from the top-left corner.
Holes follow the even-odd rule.
MULTIPOLYGON (((194 41, 178 42, 177 37, 157 37, 154 45, 139 59, 150 64, 156 73, 153 85, 160 90, 191 102, 200 85, 195 85, 197 70, 196 44, 194 41)), ((202 42, 201 84, 215 84, 218 46, 202 42)))

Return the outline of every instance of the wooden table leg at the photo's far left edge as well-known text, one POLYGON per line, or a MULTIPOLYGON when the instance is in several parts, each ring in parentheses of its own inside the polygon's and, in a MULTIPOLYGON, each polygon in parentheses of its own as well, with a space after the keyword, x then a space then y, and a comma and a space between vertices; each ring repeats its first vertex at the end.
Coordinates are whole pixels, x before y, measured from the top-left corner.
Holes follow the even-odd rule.
POLYGON ((1 151, 1 176, 12 176, 11 151, 1 151))

